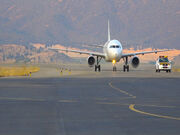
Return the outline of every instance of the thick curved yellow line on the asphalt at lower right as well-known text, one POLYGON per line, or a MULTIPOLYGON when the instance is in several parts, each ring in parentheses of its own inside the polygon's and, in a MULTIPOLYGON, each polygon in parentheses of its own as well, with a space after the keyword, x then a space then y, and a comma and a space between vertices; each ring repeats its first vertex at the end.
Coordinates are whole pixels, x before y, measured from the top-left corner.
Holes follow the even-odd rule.
POLYGON ((140 114, 149 115, 149 116, 154 116, 154 117, 158 117, 158 118, 164 118, 164 119, 180 120, 180 118, 177 118, 177 117, 165 116, 165 115, 158 115, 158 114, 143 112, 143 111, 140 111, 140 110, 135 109, 134 107, 135 107, 135 104, 130 104, 130 105, 129 105, 129 109, 130 109, 130 110, 132 110, 132 111, 134 111, 134 112, 137 112, 137 113, 140 113, 140 114))

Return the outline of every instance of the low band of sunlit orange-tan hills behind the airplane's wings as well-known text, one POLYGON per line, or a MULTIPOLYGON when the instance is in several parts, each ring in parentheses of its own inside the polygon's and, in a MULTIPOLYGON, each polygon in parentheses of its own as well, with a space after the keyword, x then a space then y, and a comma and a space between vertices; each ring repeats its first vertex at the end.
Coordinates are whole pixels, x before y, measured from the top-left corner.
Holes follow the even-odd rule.
MULTIPOLYGON (((66 49, 62 45, 53 45, 52 48, 66 49)), ((67 48, 73 50, 87 51, 86 49, 67 48)), ((89 50, 91 51, 91 50, 89 50)), ((93 51, 93 50, 92 50, 93 51)), ((135 53, 152 51, 152 48, 145 48, 136 50, 134 48, 124 49, 124 53, 135 53)), ((177 65, 180 63, 180 50, 174 49, 168 52, 161 52, 158 54, 140 55, 142 63, 154 63, 159 56, 167 55, 169 60, 174 61, 177 65)), ((30 44, 29 46, 6 44, 0 46, 0 64, 12 63, 26 63, 26 64, 40 64, 40 63, 86 63, 88 55, 61 52, 49 50, 45 44, 30 44)), ((131 61, 131 60, 130 60, 131 61)), ((123 60, 121 60, 123 62, 123 60)), ((110 63, 111 64, 111 63, 110 63)))

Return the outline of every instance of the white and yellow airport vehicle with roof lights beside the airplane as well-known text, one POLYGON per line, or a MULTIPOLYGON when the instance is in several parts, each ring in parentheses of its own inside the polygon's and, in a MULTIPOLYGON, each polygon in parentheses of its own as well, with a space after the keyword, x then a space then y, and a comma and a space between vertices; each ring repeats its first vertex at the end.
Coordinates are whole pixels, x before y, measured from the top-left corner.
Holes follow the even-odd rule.
POLYGON ((166 71, 171 72, 172 66, 171 62, 168 59, 168 56, 159 56, 156 61, 156 72, 166 71))

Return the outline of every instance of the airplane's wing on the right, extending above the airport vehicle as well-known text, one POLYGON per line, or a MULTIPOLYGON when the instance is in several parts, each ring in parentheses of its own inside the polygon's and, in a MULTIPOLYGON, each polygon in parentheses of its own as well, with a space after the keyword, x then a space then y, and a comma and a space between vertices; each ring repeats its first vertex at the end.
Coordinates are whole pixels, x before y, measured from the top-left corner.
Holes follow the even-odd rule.
POLYGON ((135 55, 144 55, 144 54, 148 54, 148 53, 158 53, 158 52, 166 52, 166 51, 170 51, 170 50, 155 50, 155 51, 144 51, 144 52, 137 52, 137 53, 126 53, 126 54, 122 54, 122 57, 131 57, 131 56, 135 56, 135 55))

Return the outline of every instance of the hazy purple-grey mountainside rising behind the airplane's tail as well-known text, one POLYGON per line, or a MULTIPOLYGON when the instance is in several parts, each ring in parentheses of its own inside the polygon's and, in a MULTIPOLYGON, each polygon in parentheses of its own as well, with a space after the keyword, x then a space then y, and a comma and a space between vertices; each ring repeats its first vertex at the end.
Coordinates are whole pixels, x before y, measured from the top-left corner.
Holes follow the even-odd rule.
POLYGON ((111 36, 125 48, 180 49, 180 0, 3 0, 0 44, 83 44, 111 36))

